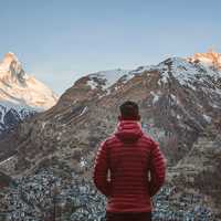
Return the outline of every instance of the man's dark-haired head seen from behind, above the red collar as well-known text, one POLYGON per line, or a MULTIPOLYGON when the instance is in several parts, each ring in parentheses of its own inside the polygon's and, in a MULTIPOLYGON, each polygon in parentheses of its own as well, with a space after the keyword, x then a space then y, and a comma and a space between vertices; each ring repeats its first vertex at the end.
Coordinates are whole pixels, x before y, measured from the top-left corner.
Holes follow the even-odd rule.
POLYGON ((140 120, 139 107, 135 102, 127 101, 119 106, 119 120, 140 120))

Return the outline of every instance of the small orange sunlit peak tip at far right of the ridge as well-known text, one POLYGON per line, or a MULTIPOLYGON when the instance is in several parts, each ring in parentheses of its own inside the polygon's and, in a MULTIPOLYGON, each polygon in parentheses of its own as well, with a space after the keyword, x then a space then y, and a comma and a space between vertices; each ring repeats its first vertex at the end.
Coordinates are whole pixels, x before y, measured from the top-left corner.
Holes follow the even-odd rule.
POLYGON ((213 49, 209 49, 206 53, 194 53, 192 57, 188 57, 188 61, 221 70, 221 53, 213 49))

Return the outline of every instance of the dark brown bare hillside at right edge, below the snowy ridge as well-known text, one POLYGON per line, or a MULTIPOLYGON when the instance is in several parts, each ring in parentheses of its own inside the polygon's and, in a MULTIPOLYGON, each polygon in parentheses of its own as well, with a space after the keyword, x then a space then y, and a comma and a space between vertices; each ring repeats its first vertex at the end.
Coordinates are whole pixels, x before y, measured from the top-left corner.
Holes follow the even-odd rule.
POLYGON ((221 218, 221 120, 210 125, 170 173, 178 192, 199 192, 221 218))

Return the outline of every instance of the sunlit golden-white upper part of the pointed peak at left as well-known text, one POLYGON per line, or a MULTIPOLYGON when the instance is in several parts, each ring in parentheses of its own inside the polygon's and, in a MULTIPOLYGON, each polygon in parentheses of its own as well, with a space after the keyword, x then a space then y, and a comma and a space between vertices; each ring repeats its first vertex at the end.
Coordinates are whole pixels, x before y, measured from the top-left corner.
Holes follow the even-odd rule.
POLYGON ((57 96, 46 85, 24 72, 14 53, 4 55, 0 62, 0 104, 48 109, 56 101, 57 96))

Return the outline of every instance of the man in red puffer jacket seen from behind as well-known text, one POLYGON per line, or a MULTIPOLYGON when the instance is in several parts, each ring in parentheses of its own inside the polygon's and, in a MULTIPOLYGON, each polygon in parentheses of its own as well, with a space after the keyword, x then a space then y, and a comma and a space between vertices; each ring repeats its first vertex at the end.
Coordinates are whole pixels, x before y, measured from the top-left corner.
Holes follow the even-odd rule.
POLYGON ((119 109, 115 133, 98 148, 94 183, 107 197, 107 221, 148 221, 151 197, 165 181, 166 160, 141 130, 138 105, 128 101, 119 109))

